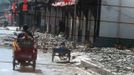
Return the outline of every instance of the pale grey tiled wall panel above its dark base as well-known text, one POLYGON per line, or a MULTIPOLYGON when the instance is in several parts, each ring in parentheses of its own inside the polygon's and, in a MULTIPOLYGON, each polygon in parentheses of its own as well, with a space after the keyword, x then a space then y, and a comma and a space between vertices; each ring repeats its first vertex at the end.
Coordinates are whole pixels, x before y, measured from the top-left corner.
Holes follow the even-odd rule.
POLYGON ((100 36, 134 39, 134 0, 102 0, 100 36))

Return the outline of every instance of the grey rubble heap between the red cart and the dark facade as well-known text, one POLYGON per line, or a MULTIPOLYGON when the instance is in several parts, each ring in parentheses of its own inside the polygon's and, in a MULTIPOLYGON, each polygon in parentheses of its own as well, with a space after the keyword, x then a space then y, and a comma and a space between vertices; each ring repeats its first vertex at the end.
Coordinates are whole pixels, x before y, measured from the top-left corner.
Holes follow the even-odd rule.
POLYGON ((71 45, 71 42, 67 41, 62 36, 53 36, 48 33, 39 33, 36 32, 35 35, 38 35, 38 49, 42 49, 43 51, 52 50, 54 47, 59 47, 62 42, 65 42, 67 47, 71 45))

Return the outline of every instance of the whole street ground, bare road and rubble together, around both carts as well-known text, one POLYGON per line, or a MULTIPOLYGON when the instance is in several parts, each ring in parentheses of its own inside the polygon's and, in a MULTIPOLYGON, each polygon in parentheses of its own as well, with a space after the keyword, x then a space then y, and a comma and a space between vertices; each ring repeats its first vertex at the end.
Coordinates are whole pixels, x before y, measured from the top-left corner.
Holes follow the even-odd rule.
POLYGON ((5 75, 133 75, 133 49, 118 50, 116 48, 89 48, 84 45, 72 47, 72 42, 62 36, 36 32, 38 54, 36 68, 17 65, 13 70, 13 47, 11 31, 0 33, 0 74, 5 75), (10 34, 10 35, 9 35, 10 34), (8 39, 8 40, 7 40, 8 39), (52 62, 52 49, 66 42, 71 50, 70 62, 55 56, 52 62))

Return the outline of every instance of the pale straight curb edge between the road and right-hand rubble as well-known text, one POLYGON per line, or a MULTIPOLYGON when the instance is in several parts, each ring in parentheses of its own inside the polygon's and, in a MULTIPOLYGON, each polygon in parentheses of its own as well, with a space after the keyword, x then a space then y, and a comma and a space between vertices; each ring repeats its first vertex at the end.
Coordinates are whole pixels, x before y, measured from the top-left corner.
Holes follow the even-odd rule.
POLYGON ((109 72, 108 70, 105 70, 101 67, 99 67, 97 64, 94 64, 93 62, 90 62, 88 60, 81 60, 81 67, 84 67, 85 69, 90 69, 100 75, 114 75, 113 73, 109 72))

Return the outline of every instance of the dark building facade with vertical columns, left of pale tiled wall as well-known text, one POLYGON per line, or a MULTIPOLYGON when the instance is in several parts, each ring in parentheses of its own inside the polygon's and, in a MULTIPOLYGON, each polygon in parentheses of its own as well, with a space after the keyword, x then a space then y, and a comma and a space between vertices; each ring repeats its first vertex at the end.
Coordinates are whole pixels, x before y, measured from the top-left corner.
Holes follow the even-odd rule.
MULTIPOLYGON (((35 1, 28 2, 27 13, 19 8, 17 22, 20 26, 36 25, 43 32, 54 35, 62 33, 66 39, 76 43, 93 43, 98 37, 100 0, 71 0, 68 3, 64 0, 35 1)), ((18 3, 19 7, 23 4, 18 3)))

